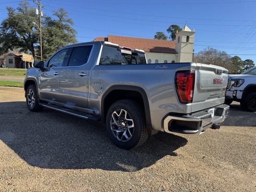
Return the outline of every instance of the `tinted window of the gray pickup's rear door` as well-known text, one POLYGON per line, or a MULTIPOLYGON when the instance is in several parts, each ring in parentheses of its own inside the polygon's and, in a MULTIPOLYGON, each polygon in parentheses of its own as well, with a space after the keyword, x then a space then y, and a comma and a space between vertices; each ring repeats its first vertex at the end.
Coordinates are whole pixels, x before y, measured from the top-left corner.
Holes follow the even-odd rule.
POLYGON ((92 45, 74 47, 68 66, 81 66, 88 62, 92 45))

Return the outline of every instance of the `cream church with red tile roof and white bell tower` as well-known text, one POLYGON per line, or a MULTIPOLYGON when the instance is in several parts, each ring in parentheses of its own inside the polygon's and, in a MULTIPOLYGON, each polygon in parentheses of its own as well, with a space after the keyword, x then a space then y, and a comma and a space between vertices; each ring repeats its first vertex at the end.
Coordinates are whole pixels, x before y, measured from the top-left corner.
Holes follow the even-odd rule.
POLYGON ((93 41, 108 41, 114 44, 145 51, 148 63, 192 62, 195 30, 187 24, 176 32, 175 41, 134 38, 108 35, 97 37, 93 41))

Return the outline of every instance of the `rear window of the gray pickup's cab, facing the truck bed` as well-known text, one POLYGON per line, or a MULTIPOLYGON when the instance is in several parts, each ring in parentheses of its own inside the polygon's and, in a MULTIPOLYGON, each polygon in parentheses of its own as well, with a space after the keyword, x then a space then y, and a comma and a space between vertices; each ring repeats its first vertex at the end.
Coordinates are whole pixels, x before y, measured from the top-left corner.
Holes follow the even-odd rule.
POLYGON ((146 64, 145 55, 141 53, 103 46, 100 56, 100 65, 146 64), (130 54, 125 53, 130 52, 130 54))

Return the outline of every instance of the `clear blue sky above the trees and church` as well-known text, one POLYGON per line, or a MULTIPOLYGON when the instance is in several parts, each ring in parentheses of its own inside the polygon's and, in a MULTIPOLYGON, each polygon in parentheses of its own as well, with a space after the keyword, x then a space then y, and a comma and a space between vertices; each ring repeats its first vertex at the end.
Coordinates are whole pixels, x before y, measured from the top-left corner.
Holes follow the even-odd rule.
MULTIPOLYGON (((0 1, 0 20, 7 16, 6 6, 18 6, 15 1, 0 1)), ((182 27, 187 21, 196 30, 195 53, 211 46, 256 63, 256 0, 42 0, 41 4, 47 15, 64 8, 74 20, 79 42, 108 34, 154 38, 158 31, 168 35, 171 24, 182 27)))

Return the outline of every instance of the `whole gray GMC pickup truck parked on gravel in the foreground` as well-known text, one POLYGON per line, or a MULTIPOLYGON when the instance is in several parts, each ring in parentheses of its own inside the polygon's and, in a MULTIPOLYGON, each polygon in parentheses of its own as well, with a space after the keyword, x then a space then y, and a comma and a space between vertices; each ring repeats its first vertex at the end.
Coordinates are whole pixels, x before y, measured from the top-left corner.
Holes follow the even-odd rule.
POLYGON ((228 114, 228 70, 219 66, 147 64, 143 50, 110 42, 66 46, 34 66, 24 80, 29 110, 103 120, 111 140, 125 149, 158 131, 220 128, 228 114))

